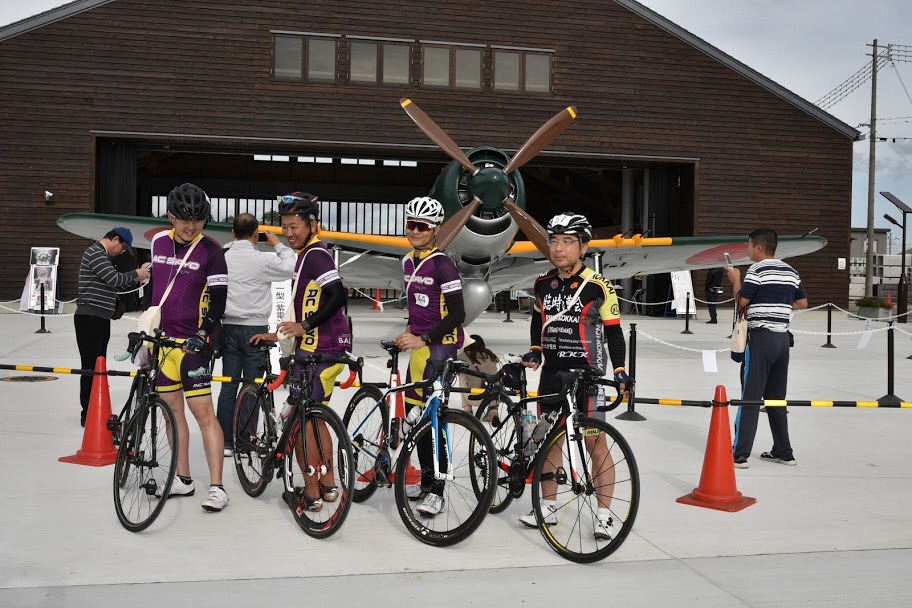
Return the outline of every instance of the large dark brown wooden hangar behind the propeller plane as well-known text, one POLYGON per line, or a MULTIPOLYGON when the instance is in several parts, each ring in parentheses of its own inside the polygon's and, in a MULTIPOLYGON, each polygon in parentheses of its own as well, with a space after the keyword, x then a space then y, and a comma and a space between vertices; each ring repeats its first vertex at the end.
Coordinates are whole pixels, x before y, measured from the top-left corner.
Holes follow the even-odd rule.
POLYGON ((602 236, 818 228, 829 245, 795 266, 814 301, 847 303, 858 132, 633 0, 77 0, 6 26, 0 297, 47 245, 73 297, 88 242, 56 218, 156 214, 184 181, 216 219, 301 189, 337 205, 328 228, 358 229, 449 160, 401 97, 508 154, 574 105, 522 168, 534 217, 573 208, 602 236))

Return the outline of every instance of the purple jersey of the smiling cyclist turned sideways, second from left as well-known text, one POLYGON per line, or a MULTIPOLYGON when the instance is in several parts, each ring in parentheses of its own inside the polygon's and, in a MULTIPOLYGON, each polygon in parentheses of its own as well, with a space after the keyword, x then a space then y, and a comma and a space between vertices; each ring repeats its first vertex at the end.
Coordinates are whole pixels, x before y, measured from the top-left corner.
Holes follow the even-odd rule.
MULTIPOLYGON (((295 264, 295 274, 300 272, 298 289, 293 294, 295 320, 299 323, 309 319, 325 306, 324 290, 342 283, 332 254, 320 237, 314 236, 301 250, 295 264)), ((344 300, 343 300, 344 303, 344 300)), ((351 350, 352 334, 345 311, 340 307, 329 318, 311 327, 298 340, 298 349, 305 352, 341 353, 351 350)))

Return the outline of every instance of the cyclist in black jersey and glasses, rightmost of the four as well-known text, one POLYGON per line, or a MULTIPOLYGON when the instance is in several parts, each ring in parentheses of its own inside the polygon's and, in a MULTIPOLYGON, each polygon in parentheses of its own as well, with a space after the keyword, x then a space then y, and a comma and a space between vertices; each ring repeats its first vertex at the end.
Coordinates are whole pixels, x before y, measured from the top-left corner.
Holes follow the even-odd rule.
MULTIPOLYGON (((630 378, 624 371, 627 346, 621 330, 620 308, 611 281, 596 274, 583 264, 583 256, 592 238, 592 227, 585 216, 565 212, 548 222, 548 246, 555 268, 541 274, 535 281, 535 304, 530 337, 532 347, 523 356, 523 364, 532 369, 542 366, 539 395, 557 393, 560 381, 556 372, 574 368, 588 368, 599 374, 606 372, 610 359, 614 379, 627 389, 630 378)), ((593 407, 594 399, 588 394, 577 395, 580 411, 585 416, 605 419, 604 412, 593 407)), ((560 406, 541 405, 540 414, 546 415, 560 406)), ((586 448, 592 456, 593 477, 596 488, 610 490, 614 468, 604 439, 587 437, 586 448), (602 439, 601 441, 599 439, 602 439)), ((561 445, 556 444, 548 455, 545 472, 554 472, 560 463, 561 445)), ((554 481, 542 482, 542 512, 545 524, 557 523, 554 481)), ((609 540, 611 536, 611 495, 596 490, 598 522, 595 538, 609 540)), ((535 528, 535 513, 519 518, 524 525, 535 528)))

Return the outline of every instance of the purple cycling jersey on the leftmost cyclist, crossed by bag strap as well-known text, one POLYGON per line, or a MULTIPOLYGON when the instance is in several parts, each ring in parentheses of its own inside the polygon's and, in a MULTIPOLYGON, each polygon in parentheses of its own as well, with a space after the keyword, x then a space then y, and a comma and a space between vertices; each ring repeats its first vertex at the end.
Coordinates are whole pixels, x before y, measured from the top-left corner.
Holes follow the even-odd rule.
POLYGON ((189 338, 201 327, 209 331, 224 312, 224 299, 228 293, 225 254, 217 242, 203 234, 197 235, 193 242, 198 244, 181 268, 181 260, 190 244, 179 245, 174 240, 173 230, 161 232, 152 239, 153 305, 161 302, 169 283, 177 277, 161 314, 161 328, 172 338, 189 338), (217 318, 210 305, 214 289, 222 291, 222 306, 217 318))

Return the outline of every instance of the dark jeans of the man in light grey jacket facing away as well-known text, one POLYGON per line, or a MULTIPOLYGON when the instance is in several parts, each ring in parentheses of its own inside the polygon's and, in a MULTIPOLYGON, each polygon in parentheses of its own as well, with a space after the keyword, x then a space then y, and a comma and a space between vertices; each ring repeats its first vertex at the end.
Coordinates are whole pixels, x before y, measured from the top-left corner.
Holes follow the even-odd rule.
MULTIPOLYGON (((265 333, 266 325, 222 325, 222 375, 232 378, 253 379, 262 374, 260 366, 265 363, 264 353, 258 346, 250 346, 250 338, 265 333)), ((223 382, 219 390, 216 415, 225 435, 225 445, 231 445, 234 426, 234 403, 240 385, 237 382, 223 382)))

